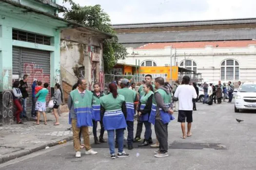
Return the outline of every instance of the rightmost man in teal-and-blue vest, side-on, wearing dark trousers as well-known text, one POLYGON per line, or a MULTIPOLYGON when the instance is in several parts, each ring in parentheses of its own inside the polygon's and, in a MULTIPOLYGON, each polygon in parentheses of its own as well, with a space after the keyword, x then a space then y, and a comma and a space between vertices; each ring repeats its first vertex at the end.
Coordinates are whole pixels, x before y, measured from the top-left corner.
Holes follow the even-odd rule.
POLYGON ((168 151, 168 123, 171 120, 170 114, 173 114, 171 105, 170 89, 164 86, 164 79, 158 77, 155 79, 157 91, 154 93, 153 103, 156 103, 155 132, 159 141, 159 150, 155 152, 155 157, 169 156, 168 151))

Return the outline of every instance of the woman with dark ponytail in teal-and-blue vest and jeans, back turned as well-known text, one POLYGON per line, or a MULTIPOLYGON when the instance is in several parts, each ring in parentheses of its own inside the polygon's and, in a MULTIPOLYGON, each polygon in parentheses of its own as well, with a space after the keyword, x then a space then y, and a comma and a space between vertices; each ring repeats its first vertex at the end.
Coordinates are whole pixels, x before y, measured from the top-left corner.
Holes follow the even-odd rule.
POLYGON ((110 150, 110 158, 116 159, 114 137, 115 130, 118 140, 117 157, 128 157, 129 154, 123 151, 123 134, 126 125, 126 105, 124 96, 118 95, 117 85, 111 83, 109 86, 109 94, 103 96, 100 102, 100 115, 103 121, 104 129, 108 132, 108 145, 110 150))

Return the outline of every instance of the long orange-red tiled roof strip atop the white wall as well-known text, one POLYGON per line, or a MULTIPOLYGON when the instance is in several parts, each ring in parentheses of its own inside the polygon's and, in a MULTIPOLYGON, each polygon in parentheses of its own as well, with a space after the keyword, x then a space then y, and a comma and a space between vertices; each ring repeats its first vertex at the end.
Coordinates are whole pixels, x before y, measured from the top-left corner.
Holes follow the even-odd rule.
POLYGON ((168 46, 172 46, 172 48, 174 49, 193 49, 205 48, 205 46, 208 45, 217 48, 247 47, 248 45, 256 45, 256 40, 149 43, 144 46, 138 47, 137 50, 164 49, 164 47, 168 46))

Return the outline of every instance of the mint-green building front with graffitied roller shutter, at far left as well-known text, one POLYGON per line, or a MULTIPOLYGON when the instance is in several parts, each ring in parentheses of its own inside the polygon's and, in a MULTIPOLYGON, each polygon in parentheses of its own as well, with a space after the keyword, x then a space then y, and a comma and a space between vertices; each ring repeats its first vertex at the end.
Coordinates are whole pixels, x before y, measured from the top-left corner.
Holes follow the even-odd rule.
MULTIPOLYGON (((31 84, 36 78, 53 91, 60 75, 60 28, 70 25, 57 17, 64 8, 57 0, 0 1, 0 122, 13 120, 12 83, 28 75, 27 116, 31 84)), ((50 99, 50 94, 48 95, 50 99)))

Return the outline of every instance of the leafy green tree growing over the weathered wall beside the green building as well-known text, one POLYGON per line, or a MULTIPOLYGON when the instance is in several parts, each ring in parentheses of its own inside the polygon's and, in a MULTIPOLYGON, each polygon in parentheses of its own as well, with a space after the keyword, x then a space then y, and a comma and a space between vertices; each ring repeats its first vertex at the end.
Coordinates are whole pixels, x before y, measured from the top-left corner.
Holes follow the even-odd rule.
POLYGON ((110 73, 118 59, 125 58, 127 52, 125 47, 118 43, 118 37, 111 27, 109 15, 101 9, 100 5, 80 6, 73 0, 64 0, 64 2, 69 2, 72 5, 71 8, 64 13, 65 19, 73 20, 84 26, 113 35, 111 39, 103 41, 104 72, 110 73))

